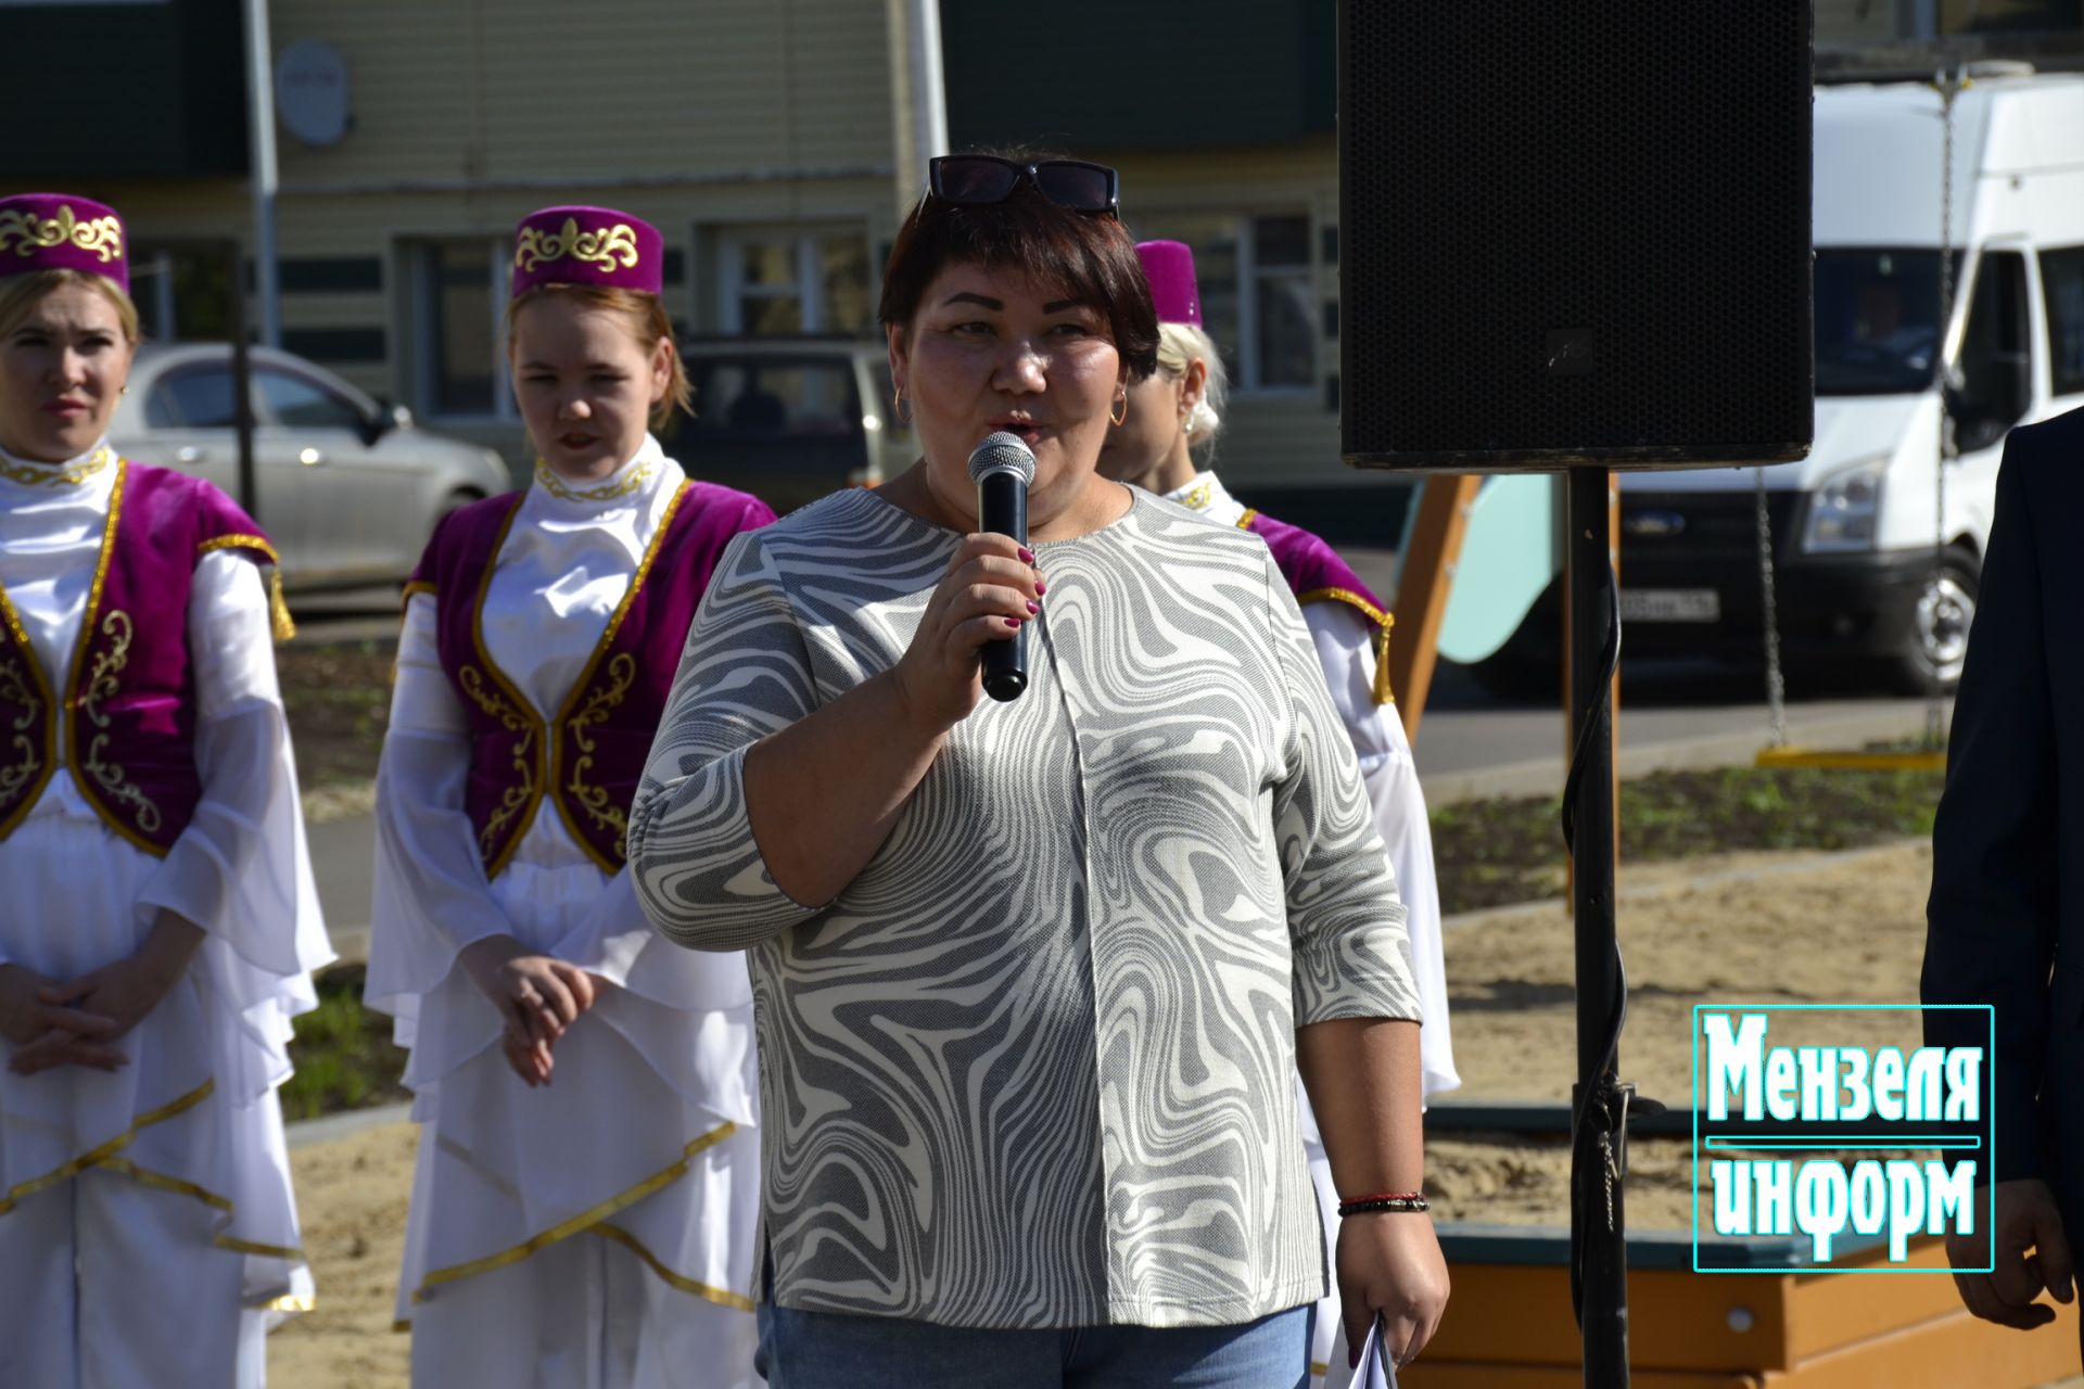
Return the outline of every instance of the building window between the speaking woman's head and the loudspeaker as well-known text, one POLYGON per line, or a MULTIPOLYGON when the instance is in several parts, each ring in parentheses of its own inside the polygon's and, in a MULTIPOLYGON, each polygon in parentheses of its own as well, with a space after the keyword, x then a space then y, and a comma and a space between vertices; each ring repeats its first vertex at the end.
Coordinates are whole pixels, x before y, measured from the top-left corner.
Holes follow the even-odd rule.
POLYGON ((1234 389, 1317 389, 1315 237, 1305 212, 1155 217, 1136 235, 1194 248, 1202 327, 1234 389))

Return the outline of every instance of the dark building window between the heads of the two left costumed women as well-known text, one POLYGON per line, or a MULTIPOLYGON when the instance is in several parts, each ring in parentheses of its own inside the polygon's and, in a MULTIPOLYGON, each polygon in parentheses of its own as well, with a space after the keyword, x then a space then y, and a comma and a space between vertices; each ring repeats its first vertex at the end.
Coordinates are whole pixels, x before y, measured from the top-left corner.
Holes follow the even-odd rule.
POLYGON ((419 410, 450 419, 517 419, 506 387, 508 242, 417 242, 408 264, 419 410))

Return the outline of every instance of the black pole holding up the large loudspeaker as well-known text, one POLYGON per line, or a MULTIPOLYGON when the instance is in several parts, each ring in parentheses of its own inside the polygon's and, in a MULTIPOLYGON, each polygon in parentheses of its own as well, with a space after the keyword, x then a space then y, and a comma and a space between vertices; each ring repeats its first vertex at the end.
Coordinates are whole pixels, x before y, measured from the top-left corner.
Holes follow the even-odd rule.
POLYGON ((1571 727, 1592 733, 1576 768, 1571 906, 1578 939, 1578 1085, 1580 1122, 1571 1135, 1571 1260, 1582 1270, 1578 1329, 1584 1337, 1586 1389, 1628 1385, 1628 1243, 1621 1218, 1626 1091, 1617 1079, 1621 966, 1613 935, 1615 783, 1613 681, 1603 679, 1601 648, 1615 610, 1611 475, 1571 469, 1565 494, 1569 533, 1569 691, 1571 727), (1609 1054, 1609 1041, 1615 1052, 1609 1054))

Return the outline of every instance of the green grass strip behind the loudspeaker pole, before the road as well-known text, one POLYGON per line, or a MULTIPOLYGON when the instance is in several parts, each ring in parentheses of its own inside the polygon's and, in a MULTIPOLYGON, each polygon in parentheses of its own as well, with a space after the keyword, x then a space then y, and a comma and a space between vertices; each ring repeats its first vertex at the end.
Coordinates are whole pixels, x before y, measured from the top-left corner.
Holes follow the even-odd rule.
MULTIPOLYGON (((1653 773, 1621 783, 1621 862, 1732 850, 1851 850, 1930 835, 1942 773, 1751 768, 1653 773)), ((1432 812, 1440 910, 1563 891, 1557 802, 1478 800, 1432 812)))

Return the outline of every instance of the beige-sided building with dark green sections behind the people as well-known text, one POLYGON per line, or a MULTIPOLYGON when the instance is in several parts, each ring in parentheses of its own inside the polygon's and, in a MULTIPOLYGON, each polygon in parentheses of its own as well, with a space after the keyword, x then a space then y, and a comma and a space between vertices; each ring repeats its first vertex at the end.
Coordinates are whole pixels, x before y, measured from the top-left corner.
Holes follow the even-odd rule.
MULTIPOLYGON (((1901 48, 1921 25, 1953 33, 1969 23, 1963 4, 1817 0, 1819 52, 1901 48)), ((525 462, 500 352, 504 248, 513 223, 550 202, 609 202, 656 223, 669 308, 690 333, 873 337, 882 254, 923 175, 900 154, 904 10, 904 0, 271 0, 275 52, 325 44, 350 85, 338 140, 277 133, 283 346, 525 462)), ((2076 10, 2078 0, 1986 0, 1976 15, 2009 25, 2044 12, 2074 31, 2076 10)), ((79 171, 52 165, 46 146, 0 154, 0 187, 58 181, 121 206, 150 327, 223 337, 223 242, 252 237, 225 71, 235 62, 223 56, 235 52, 238 4, 81 4, 71 17, 58 42, 75 46, 94 33, 79 25, 129 25, 131 44, 148 23, 167 42, 185 35, 171 52, 192 75, 183 117, 196 129, 177 133, 208 148, 169 175, 179 160, 138 125, 154 117, 127 115, 79 171), (217 94, 213 110, 198 92, 217 94), (127 152, 154 177, 115 173, 127 152)), ((1382 525, 1392 525, 1407 483, 1355 477, 1338 460, 1336 0, 1205 0, 1190 25, 1119 0, 1055 0, 1044 27, 1013 0, 940 0, 940 17, 959 148, 1027 142, 1113 162, 1130 227, 1196 248, 1234 377, 1217 452, 1225 475, 1269 510, 1282 491, 1386 487, 1382 525)), ((10 46, 0 81, 10 69, 33 108, 44 65, 10 46)), ((0 110, 6 102, 0 94, 0 110)))

